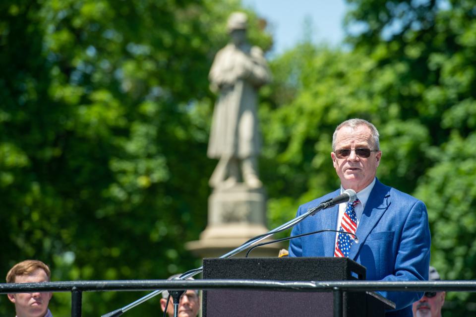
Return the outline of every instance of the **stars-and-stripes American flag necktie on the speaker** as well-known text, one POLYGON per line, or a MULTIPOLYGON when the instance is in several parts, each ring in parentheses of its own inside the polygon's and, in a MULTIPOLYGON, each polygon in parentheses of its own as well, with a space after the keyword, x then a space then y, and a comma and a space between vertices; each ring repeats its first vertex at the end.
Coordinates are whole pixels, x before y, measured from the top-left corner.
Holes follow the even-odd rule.
MULTIPOLYGON (((341 226, 339 231, 345 231, 355 234, 357 231, 357 216, 355 206, 359 203, 358 198, 353 203, 348 203, 346 212, 342 216, 341 226)), ((354 236, 339 233, 337 238, 336 250, 334 251, 334 256, 336 257, 348 257, 349 252, 351 251, 352 243, 354 242, 354 236)))

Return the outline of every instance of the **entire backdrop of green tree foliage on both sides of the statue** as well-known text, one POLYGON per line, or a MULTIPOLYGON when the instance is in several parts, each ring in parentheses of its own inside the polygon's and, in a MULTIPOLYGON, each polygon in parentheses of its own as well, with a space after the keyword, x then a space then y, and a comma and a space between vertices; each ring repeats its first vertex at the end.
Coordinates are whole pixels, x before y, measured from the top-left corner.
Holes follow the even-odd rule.
MULTIPOLYGON (((346 49, 303 42, 270 62, 261 90, 261 178, 270 227, 335 190, 334 128, 381 133, 385 184, 427 207, 432 264, 475 279, 474 1, 348 0, 346 49)), ((206 225, 214 96, 207 74, 235 0, 0 3, 1 271, 51 264, 54 280, 165 278, 198 266, 183 249, 206 225)), ((269 36, 250 13, 251 41, 269 36)), ((89 293, 84 316, 135 300, 89 293)), ((474 295, 450 293, 445 314, 474 295)), ((55 294, 68 315, 69 294, 55 294)), ((134 314, 158 311, 157 300, 134 314)), ((12 305, 0 298, 0 314, 12 305)))

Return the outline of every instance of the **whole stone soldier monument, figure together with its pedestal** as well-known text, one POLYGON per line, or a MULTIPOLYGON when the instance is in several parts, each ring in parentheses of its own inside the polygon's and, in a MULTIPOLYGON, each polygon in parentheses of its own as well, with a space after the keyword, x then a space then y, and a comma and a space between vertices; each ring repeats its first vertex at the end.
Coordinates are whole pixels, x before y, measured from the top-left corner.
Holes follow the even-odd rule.
MULTIPOLYGON (((263 52, 246 42, 246 24, 244 13, 230 16, 231 42, 217 53, 210 69, 218 99, 208 157, 219 161, 210 179, 214 190, 208 199, 207 227, 199 240, 186 244, 199 257, 221 256, 268 232, 266 192, 258 177, 261 136, 256 107, 258 88, 271 80, 271 74, 263 52)), ((263 246, 252 256, 276 256, 281 248, 263 246)))

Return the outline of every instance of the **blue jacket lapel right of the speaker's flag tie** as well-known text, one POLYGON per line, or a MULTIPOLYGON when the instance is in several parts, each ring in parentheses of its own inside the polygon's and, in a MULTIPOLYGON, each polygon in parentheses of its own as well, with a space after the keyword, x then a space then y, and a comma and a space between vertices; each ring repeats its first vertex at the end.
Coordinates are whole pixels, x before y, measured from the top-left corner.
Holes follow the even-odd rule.
POLYGON ((349 253, 350 259, 355 260, 357 258, 357 254, 367 239, 369 233, 388 209, 388 206, 390 205, 390 198, 391 197, 388 193, 388 187, 376 180, 357 227, 356 235, 358 238, 358 243, 352 244, 351 251, 349 253))

